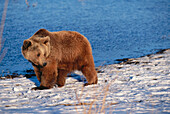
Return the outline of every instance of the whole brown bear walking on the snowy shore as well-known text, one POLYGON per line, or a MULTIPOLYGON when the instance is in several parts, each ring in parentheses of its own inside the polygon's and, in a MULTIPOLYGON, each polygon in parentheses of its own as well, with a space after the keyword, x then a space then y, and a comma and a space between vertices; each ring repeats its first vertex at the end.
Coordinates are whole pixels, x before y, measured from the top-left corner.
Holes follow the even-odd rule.
POLYGON ((74 31, 49 32, 38 30, 32 37, 24 40, 23 56, 32 63, 40 87, 49 89, 55 84, 62 87, 67 74, 81 71, 87 83, 97 84, 92 49, 89 41, 83 35, 74 31))

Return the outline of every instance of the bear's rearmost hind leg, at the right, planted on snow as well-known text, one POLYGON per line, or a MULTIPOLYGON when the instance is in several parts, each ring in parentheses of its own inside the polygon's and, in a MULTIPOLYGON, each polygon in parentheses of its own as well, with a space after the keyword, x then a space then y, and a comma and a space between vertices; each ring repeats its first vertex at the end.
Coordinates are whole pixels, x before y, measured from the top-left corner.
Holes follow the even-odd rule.
POLYGON ((82 73, 86 77, 87 83, 84 84, 84 86, 91 85, 91 84, 97 84, 97 72, 95 70, 95 67, 93 66, 83 66, 81 69, 82 73))

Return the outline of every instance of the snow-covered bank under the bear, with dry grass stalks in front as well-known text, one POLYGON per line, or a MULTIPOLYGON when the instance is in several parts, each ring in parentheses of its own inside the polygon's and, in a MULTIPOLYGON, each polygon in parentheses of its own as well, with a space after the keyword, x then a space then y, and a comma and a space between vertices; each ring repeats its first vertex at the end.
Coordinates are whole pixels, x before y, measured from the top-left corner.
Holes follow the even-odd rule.
POLYGON ((0 113, 170 113, 170 50, 100 68, 98 84, 81 74, 62 88, 32 91, 35 76, 0 80, 0 113))

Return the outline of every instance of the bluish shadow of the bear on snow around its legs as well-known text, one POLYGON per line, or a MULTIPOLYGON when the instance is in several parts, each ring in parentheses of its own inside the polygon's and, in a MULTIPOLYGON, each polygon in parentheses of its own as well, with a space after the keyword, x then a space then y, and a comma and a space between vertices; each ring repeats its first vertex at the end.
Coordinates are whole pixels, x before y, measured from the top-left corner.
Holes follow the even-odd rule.
MULTIPOLYGON (((87 83, 86 78, 83 75, 70 73, 70 74, 67 75, 67 78, 69 78, 69 77, 71 77, 73 79, 76 79, 77 81, 75 81, 75 82, 83 82, 84 84, 87 83)), ((34 82, 37 87, 40 86, 40 82, 38 81, 38 79, 37 79, 37 77, 35 75, 33 75, 31 77, 26 76, 26 78, 28 78, 30 81, 34 82)))

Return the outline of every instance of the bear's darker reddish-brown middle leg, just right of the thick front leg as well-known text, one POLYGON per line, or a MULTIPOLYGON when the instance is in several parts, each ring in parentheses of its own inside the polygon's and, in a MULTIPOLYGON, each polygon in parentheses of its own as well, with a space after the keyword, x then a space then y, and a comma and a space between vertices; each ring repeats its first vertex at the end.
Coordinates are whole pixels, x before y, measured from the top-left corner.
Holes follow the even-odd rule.
POLYGON ((66 77, 69 72, 66 70, 58 69, 57 85, 63 87, 65 85, 66 77))

